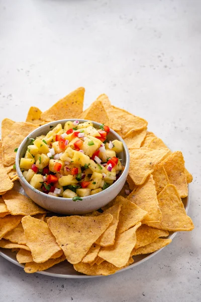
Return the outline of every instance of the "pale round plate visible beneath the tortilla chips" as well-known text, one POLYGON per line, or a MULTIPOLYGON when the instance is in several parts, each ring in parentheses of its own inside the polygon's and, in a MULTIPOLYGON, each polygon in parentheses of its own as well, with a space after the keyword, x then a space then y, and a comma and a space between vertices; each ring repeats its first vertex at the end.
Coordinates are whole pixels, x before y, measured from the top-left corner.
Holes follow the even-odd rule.
MULTIPOLYGON (((20 186, 19 182, 15 182, 14 185, 15 190, 19 191, 22 194, 24 193, 23 188, 20 186)), ((26 194, 25 194, 26 195, 26 194)), ((190 191, 189 191, 189 185, 188 185, 188 196, 182 199, 183 205, 185 207, 186 213, 188 211, 189 208, 189 204, 190 204, 190 191)), ((173 239, 176 236, 176 233, 170 233, 170 235, 167 238, 173 239)), ((162 248, 164 249, 164 248, 162 248)), ((117 273, 125 271, 127 269, 133 268, 141 263, 143 263, 144 261, 147 261, 148 259, 150 259, 151 257, 155 256, 157 253, 159 253, 160 251, 162 251, 162 249, 151 253, 151 254, 147 254, 147 255, 138 255, 138 256, 134 256, 134 263, 117 271, 117 273)), ((4 257, 5 259, 9 260, 10 262, 24 268, 24 265, 20 264, 17 260, 16 260, 16 253, 12 252, 10 249, 2 249, 0 248, 0 255, 2 257, 4 257)), ((99 277, 99 276, 87 276, 87 275, 83 275, 77 271, 74 270, 73 265, 70 264, 69 262, 65 261, 65 262, 61 262, 59 264, 54 265, 53 267, 48 268, 45 271, 42 272, 38 272, 39 274, 42 275, 48 275, 48 276, 52 276, 52 277, 59 277, 59 278, 94 278, 94 277, 99 277)))

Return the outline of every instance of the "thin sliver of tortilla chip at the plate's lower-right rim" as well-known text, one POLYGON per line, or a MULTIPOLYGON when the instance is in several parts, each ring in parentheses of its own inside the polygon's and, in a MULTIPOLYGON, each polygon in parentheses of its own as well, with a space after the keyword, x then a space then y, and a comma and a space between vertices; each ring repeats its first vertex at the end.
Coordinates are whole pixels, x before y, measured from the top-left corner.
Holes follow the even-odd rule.
POLYGON ((151 244, 141 247, 139 249, 133 249, 131 255, 136 256, 136 255, 142 255, 142 254, 150 254, 153 253, 157 250, 160 250, 167 246, 170 242, 172 242, 171 239, 157 239, 156 241, 152 242, 151 244))

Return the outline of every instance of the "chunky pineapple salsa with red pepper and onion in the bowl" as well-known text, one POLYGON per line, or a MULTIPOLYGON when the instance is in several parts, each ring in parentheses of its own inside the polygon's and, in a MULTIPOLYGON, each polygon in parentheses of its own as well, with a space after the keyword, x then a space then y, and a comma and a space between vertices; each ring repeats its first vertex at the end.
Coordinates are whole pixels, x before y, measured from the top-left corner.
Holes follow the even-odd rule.
POLYGON ((107 189, 124 169, 117 157, 123 143, 107 142, 109 132, 108 126, 96 129, 91 121, 67 121, 64 129, 50 126, 46 135, 28 138, 20 160, 23 176, 41 192, 74 201, 107 189))

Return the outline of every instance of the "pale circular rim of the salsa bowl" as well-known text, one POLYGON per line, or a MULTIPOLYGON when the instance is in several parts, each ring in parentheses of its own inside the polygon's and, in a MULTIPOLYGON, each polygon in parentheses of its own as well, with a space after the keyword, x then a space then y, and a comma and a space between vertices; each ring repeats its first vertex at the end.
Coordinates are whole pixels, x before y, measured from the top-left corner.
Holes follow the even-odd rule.
MULTIPOLYGON (((34 138, 37 136, 37 134, 35 134, 37 131, 42 130, 42 128, 44 127, 47 127, 47 126, 51 126, 52 124, 55 124, 53 127, 56 127, 57 124, 59 123, 65 123, 67 121, 76 121, 78 120, 79 122, 81 123, 84 123, 84 122, 87 122, 87 121, 90 121, 90 120, 85 120, 85 119, 62 119, 62 120, 57 120, 57 121, 52 121, 52 122, 49 122, 47 124, 44 124, 38 128, 36 128, 35 130, 33 130, 32 132, 30 132, 24 139, 23 141, 21 142, 21 144, 19 145, 18 147, 18 150, 17 150, 17 154, 16 154, 16 161, 15 161, 15 164, 16 164, 16 172, 18 174, 18 177, 19 179, 21 179, 21 181, 27 186, 29 187, 33 192, 39 194, 39 195, 42 195, 44 197, 48 197, 52 200, 63 200, 63 201, 72 201, 72 198, 65 198, 65 197, 59 197, 59 196, 51 196, 51 195, 48 195, 46 193, 43 193, 41 191, 39 191, 38 189, 34 188, 33 186, 30 185, 30 183, 25 179, 25 177, 23 176, 22 174, 22 171, 20 169, 20 153, 21 153, 21 150, 24 146, 24 144, 27 142, 27 139, 28 138, 34 138), (35 136, 35 137, 32 137, 32 136, 35 136)), ((98 123, 98 122, 95 122, 95 121, 91 121, 92 123, 95 123, 95 124, 98 124, 98 125, 102 125, 101 123, 98 123)), ((52 127, 52 128, 53 128, 52 127)), ((51 128, 50 128, 51 129, 51 128)), ((124 141, 124 139, 115 131, 113 130, 112 128, 110 128, 110 131, 116 136, 116 139, 122 141, 123 143, 123 147, 124 147, 124 150, 125 150, 125 168, 124 168, 124 171, 122 172, 121 176, 119 177, 119 179, 113 183, 110 187, 108 187, 107 189, 101 191, 101 192, 98 192, 96 194, 93 194, 93 195, 89 195, 89 196, 85 196, 85 197, 81 197, 82 200, 87 200, 89 197, 92 198, 93 196, 97 196, 97 194, 99 194, 98 196, 100 196, 100 194, 106 194, 106 193, 110 193, 110 191, 114 188, 114 185, 115 186, 118 186, 118 184, 120 183, 120 181, 122 180, 123 176, 125 174, 128 174, 128 170, 129 170, 129 165, 130 165, 130 155, 129 155, 129 149, 124 141)), ((126 180, 125 180, 126 182, 126 180)), ((82 202, 82 200, 76 200, 76 202, 82 202)))

